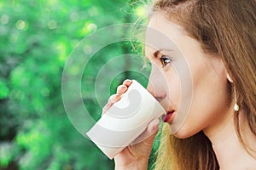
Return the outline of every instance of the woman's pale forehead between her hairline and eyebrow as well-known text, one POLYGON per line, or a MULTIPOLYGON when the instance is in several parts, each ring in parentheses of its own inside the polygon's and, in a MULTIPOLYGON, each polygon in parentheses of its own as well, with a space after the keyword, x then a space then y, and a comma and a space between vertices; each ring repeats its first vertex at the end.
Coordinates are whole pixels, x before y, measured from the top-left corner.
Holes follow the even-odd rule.
POLYGON ((185 37, 187 35, 181 26, 166 20, 162 13, 155 13, 146 31, 146 53, 148 50, 176 49, 177 43, 184 41, 185 37))

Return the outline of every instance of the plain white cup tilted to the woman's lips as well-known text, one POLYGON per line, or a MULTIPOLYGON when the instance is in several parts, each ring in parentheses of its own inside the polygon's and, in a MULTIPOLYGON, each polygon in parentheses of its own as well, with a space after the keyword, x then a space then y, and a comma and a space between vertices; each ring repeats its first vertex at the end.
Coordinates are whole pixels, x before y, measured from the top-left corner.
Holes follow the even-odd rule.
POLYGON ((135 80, 121 99, 86 133, 113 159, 121 150, 143 133, 148 123, 166 114, 165 109, 135 80))

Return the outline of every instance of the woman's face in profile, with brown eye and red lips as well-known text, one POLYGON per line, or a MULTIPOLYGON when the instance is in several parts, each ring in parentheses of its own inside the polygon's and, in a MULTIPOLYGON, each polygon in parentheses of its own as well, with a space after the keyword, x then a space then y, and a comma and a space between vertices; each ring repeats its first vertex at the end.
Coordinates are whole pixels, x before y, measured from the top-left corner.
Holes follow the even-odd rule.
POLYGON ((221 59, 204 54, 199 42, 163 14, 154 14, 148 27, 167 37, 147 31, 146 56, 152 65, 148 91, 169 113, 164 119, 175 124, 174 135, 183 139, 221 129, 232 112, 221 59))

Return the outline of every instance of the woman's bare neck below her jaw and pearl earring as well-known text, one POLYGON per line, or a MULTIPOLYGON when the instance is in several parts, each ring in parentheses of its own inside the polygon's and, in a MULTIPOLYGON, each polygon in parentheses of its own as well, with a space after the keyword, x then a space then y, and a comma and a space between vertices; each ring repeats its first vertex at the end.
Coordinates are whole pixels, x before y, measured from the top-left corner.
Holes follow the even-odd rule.
MULTIPOLYGON (((212 148, 217 156, 220 169, 253 169, 256 167, 256 155, 254 153, 253 158, 241 144, 236 133, 233 114, 230 114, 226 121, 222 122, 218 127, 206 129, 204 133, 212 142, 212 148)), ((245 123, 245 118, 241 116, 243 115, 242 111, 237 114, 240 114, 242 139, 251 149, 256 150, 256 137, 251 133, 247 123, 245 123)))

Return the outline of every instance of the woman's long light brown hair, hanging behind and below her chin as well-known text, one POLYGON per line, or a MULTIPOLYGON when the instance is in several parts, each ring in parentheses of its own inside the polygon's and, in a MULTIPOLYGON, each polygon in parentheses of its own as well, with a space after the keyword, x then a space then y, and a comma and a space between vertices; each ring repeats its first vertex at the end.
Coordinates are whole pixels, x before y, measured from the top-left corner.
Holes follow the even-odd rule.
MULTIPOLYGON (((227 84, 230 100, 236 86, 237 101, 256 136, 255 11, 255 0, 157 0, 153 5, 153 14, 163 12, 200 42, 206 54, 221 57, 234 81, 227 84)), ((238 114, 234 114, 236 133, 249 153, 241 138, 238 114)), ((215 170, 219 166, 211 141, 203 132, 177 139, 165 125, 155 169, 215 170)))

